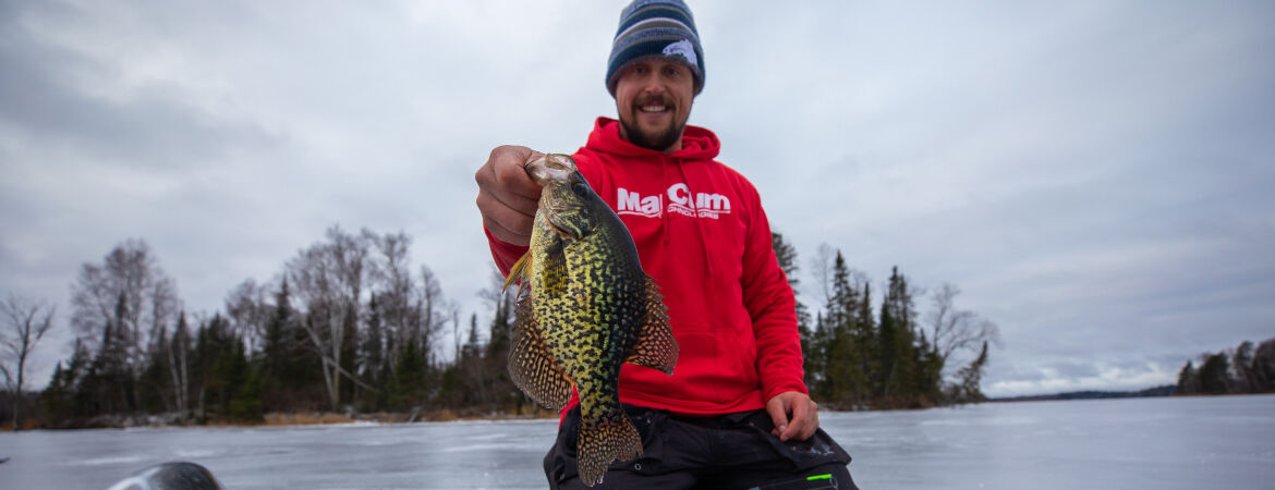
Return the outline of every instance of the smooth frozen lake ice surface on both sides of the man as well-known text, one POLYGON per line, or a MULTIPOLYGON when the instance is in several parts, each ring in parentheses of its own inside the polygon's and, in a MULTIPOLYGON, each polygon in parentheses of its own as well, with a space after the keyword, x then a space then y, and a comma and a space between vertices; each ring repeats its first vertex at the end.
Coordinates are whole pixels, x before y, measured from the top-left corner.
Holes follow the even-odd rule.
MULTIPOLYGON (((1275 395, 822 412, 863 489, 1253 489, 1275 481, 1275 395)), ((557 423, 0 434, 0 489, 105 489, 194 461, 228 489, 538 489, 557 423)))

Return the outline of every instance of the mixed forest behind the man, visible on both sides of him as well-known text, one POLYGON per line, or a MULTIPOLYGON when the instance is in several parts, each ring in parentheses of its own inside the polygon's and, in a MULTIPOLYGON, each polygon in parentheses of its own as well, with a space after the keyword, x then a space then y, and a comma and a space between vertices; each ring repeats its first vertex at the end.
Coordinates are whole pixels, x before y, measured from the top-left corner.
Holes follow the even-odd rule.
MULTIPOLYGON (((491 321, 462 318, 404 233, 330 228, 268 283, 247 279, 223 311, 182 309, 176 283, 143 241, 85 262, 71 290, 74 353, 47 386, 27 392, 26 363, 55 308, 10 294, 0 304, 0 421, 80 428, 162 420, 256 423, 269 412, 413 414, 419 417, 547 415, 509 381, 514 291, 495 271, 481 291, 491 321), (450 330, 451 345, 441 345, 450 330)), ((797 253, 774 234, 789 281, 797 253)), ((798 303, 807 384, 838 410, 983 401, 994 323, 958 309, 950 284, 929 295, 892 270, 877 308, 870 280, 822 246, 808 263, 825 304, 798 303)))

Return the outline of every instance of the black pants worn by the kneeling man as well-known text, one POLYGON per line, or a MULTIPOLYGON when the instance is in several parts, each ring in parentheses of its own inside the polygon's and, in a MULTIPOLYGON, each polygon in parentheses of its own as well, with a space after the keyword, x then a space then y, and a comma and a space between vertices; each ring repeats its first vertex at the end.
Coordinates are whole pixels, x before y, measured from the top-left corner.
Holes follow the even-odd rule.
MULTIPOLYGON (((617 461, 594 489, 852 489, 850 456, 822 429, 808 440, 770 435, 765 410, 715 417, 681 417, 625 405, 641 434, 643 454, 617 461)), ((544 456, 551 489, 584 489, 576 473, 580 407, 558 428, 544 456)))

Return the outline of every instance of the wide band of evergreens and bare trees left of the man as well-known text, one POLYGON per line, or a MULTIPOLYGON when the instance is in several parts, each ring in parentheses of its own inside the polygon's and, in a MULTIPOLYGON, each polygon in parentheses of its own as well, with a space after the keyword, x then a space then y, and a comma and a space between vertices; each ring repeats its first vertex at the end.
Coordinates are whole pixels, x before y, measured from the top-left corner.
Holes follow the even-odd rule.
POLYGON ((463 326, 433 272, 413 266, 411 243, 404 233, 333 227, 275 277, 245 280, 208 314, 182 311, 145 242, 124 242, 84 263, 71 288, 74 351, 38 397, 42 419, 92 426, 143 414, 203 423, 305 411, 527 412, 505 372, 513 291, 493 277, 482 291, 493 321, 486 332, 477 314, 463 326), (456 341, 440 345, 448 328, 456 341))

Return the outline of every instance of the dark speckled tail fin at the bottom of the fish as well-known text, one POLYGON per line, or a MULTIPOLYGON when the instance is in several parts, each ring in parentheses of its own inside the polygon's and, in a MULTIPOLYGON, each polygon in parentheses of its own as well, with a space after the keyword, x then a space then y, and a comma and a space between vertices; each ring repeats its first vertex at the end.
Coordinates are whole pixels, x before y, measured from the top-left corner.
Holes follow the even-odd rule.
POLYGON ((580 420, 580 481, 586 486, 602 482, 612 461, 629 461, 641 456, 641 435, 618 406, 603 411, 593 420, 580 420))

